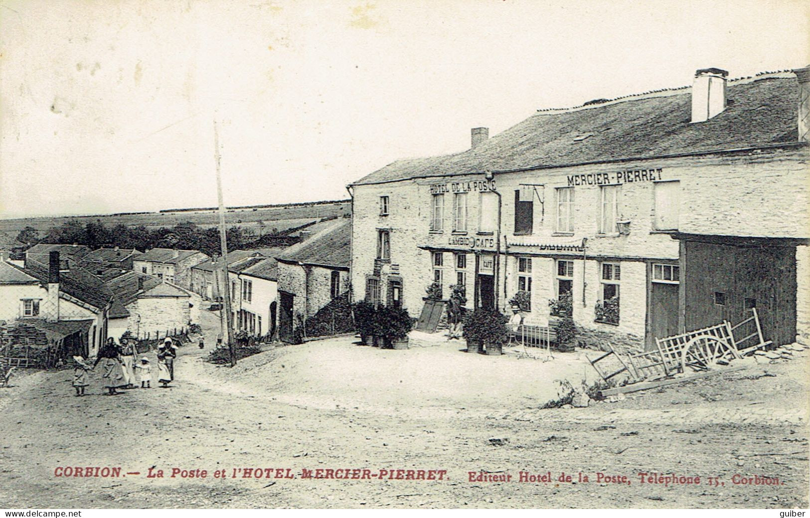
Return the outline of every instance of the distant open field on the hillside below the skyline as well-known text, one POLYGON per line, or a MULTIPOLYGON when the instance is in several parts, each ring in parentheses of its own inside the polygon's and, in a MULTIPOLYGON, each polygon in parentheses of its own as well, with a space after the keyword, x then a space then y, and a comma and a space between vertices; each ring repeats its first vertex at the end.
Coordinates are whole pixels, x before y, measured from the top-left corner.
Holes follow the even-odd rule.
MULTIPOLYGON (((275 205, 256 208, 229 208, 225 215, 228 225, 244 225, 258 232, 258 221, 265 223, 265 232, 274 227, 282 230, 307 221, 320 220, 328 216, 343 216, 351 212, 348 200, 334 202, 304 203, 293 205, 275 205)), ((0 231, 16 235, 26 226, 31 226, 45 233, 53 226, 62 225, 68 220, 79 221, 82 225, 100 220, 104 226, 110 228, 118 224, 130 227, 144 225, 149 229, 158 227, 171 227, 184 221, 191 221, 200 226, 213 226, 218 223, 215 210, 199 211, 167 211, 145 212, 140 214, 107 214, 96 216, 59 216, 59 217, 33 217, 14 220, 0 220, 0 231)))

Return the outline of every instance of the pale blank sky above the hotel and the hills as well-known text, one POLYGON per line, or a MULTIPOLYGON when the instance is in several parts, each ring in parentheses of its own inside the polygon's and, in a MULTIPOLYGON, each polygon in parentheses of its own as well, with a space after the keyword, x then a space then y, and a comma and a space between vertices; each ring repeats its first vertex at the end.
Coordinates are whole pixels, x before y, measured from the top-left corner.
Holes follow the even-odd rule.
POLYGON ((0 0, 0 216, 347 198, 535 109, 806 66, 808 2, 0 0), (216 113, 216 114, 215 114, 216 113))

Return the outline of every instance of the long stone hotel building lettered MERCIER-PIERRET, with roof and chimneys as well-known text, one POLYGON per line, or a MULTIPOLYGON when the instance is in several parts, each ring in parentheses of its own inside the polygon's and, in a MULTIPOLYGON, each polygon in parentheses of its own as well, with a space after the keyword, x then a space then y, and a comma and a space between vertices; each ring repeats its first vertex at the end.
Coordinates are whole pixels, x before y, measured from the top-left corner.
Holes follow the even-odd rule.
POLYGON ((470 308, 522 291, 544 325, 562 296, 586 341, 633 349, 756 307, 792 342, 810 332, 808 97, 807 69, 706 69, 395 161, 350 186, 355 298, 418 316, 433 281, 470 308))

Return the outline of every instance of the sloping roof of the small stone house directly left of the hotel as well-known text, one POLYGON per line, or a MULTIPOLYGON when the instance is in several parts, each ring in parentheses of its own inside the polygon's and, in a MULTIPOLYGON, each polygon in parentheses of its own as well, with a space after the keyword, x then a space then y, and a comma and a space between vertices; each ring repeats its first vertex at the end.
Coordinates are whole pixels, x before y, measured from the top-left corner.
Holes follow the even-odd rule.
POLYGON ((352 255, 352 220, 339 218, 321 232, 276 256, 282 263, 348 268, 352 255))

